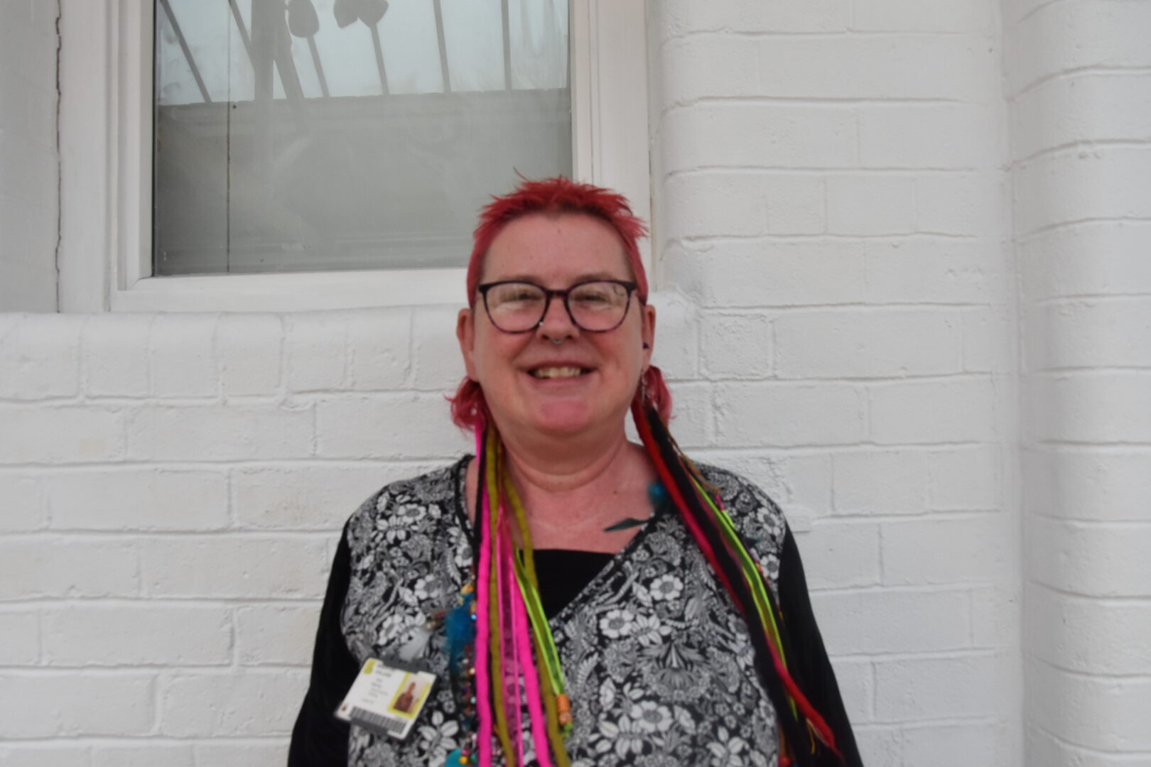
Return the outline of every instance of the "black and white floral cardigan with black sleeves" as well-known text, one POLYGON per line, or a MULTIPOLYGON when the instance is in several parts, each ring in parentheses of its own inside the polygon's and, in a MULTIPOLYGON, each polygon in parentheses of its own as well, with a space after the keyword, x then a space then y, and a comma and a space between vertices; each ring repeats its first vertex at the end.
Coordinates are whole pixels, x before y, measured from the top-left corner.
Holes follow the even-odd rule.
MULTIPOLYGON (((464 503, 468 460, 383 488, 348 521, 290 767, 439 767, 459 745, 442 634, 422 658, 440 682, 406 741, 349 730, 331 712, 365 659, 396 655, 429 615, 455 604, 474 551, 464 503)), ((700 468, 762 563, 794 645, 805 649, 793 673, 836 731, 846 764, 860 764, 783 514, 755 485, 700 468)), ((572 701, 573 767, 777 764, 776 714, 745 624, 670 506, 550 624, 572 701)), ((525 739, 535 765, 529 728, 525 739)))

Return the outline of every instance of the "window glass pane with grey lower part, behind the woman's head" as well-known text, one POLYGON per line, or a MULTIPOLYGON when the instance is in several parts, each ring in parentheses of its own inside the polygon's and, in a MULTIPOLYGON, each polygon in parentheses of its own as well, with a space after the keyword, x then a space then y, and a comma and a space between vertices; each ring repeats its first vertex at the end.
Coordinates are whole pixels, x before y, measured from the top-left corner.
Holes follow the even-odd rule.
POLYGON ((566 0, 157 0, 155 20, 155 275, 463 266, 517 171, 571 174, 566 0))

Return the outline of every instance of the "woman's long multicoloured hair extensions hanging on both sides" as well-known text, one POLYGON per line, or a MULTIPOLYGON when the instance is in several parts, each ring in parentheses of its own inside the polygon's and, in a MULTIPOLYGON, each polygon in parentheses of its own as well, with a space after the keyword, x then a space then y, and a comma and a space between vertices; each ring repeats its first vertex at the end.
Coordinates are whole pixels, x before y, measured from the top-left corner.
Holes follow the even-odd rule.
MULTIPOLYGON (((640 390, 642 391, 642 389, 640 390)), ((755 668, 780 727, 780 765, 831 767, 843 764, 831 728, 808 701, 787 665, 792 647, 786 624, 765 576, 752 559, 723 508, 718 493, 679 450, 650 401, 638 394, 632 415, 643 446, 685 527, 748 628, 755 668), (808 746, 808 747, 805 747, 808 746)), ((477 434, 481 504, 477 509, 477 711, 478 757, 491 764, 493 727, 509 765, 523 764, 521 700, 527 699, 533 742, 548 767, 548 746, 557 767, 569 767, 558 716, 563 693, 555 644, 539 603, 539 584, 523 505, 506 475, 503 446, 494 427, 477 434), (508 513, 511 506, 512 514, 508 513), (486 514, 487 519, 482 519, 486 514), (521 547, 514 549, 514 520, 521 547), (528 630, 529 626, 529 630, 528 630), (531 635, 531 638, 528 638, 531 635), (533 664, 532 651, 535 651, 533 664), (536 674, 536 668, 540 673, 536 674), (481 670, 482 669, 482 670, 481 670), (519 673, 524 674, 524 690, 519 673), (538 682, 538 683, 536 683, 538 682), (542 710, 541 713, 541 701, 542 710), (540 720, 546 721, 541 736, 540 720), (509 727, 509 720, 512 727, 509 727)))

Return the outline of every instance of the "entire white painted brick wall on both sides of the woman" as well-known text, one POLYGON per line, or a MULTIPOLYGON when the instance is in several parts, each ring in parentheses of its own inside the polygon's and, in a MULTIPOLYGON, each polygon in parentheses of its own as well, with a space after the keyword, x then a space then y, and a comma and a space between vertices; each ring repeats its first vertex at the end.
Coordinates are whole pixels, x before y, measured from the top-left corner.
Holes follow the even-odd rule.
MULTIPOLYGON (((649 22, 673 430, 790 514, 866 762, 1151 758, 1145 3, 649 22)), ((455 313, 0 314, 0 765, 283 764, 343 520, 470 448, 455 313)))

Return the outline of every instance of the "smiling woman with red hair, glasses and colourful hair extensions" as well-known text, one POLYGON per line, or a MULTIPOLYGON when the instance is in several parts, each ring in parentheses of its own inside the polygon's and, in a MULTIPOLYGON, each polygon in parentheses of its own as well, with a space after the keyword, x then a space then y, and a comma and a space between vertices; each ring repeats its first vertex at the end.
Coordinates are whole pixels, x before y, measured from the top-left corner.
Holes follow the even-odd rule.
POLYGON ((477 457, 349 520, 290 765, 860 764, 782 513, 665 430, 643 233, 563 178, 485 209, 477 457), (368 658, 437 675, 404 739, 331 715, 368 658))

